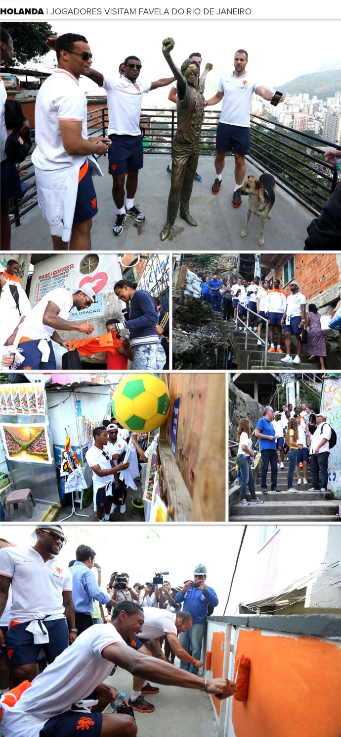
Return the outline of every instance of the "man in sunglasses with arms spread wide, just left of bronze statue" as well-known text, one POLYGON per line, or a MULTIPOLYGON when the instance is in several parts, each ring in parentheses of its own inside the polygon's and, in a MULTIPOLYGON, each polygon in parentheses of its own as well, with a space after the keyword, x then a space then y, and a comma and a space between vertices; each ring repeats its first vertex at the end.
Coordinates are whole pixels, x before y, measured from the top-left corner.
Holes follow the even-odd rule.
POLYGON ((112 144, 108 152, 108 171, 113 177, 113 201, 117 207, 113 226, 114 236, 121 235, 127 216, 133 217, 137 223, 143 223, 146 219, 138 206, 134 205, 138 170, 144 165, 140 129, 143 94, 159 87, 166 87, 174 81, 174 77, 168 77, 156 82, 143 83, 138 80, 141 69, 139 58, 130 55, 124 59, 124 74, 119 80, 116 77, 105 77, 95 69, 89 71, 90 79, 99 87, 105 88, 107 93, 108 136, 112 144), (127 192, 125 206, 124 184, 127 192))

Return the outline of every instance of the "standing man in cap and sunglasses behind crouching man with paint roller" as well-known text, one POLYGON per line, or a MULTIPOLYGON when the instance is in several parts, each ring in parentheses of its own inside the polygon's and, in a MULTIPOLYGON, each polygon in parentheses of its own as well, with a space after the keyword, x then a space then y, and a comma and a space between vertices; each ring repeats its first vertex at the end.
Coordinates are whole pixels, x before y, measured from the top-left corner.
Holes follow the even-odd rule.
POLYGON ((38 657, 55 657, 77 637, 72 579, 66 565, 56 560, 66 543, 60 525, 38 527, 32 548, 3 548, 0 551, 0 615, 12 589, 10 625, 0 645, 6 643, 7 665, 12 671, 10 688, 38 674, 38 657))

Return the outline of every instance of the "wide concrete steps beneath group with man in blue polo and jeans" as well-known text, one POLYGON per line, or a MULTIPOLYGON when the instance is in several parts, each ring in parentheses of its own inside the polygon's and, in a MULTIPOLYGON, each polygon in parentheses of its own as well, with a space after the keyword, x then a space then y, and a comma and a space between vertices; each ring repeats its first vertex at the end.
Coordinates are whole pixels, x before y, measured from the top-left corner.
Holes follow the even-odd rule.
MULTIPOLYGON (((239 523, 249 522, 321 522, 328 524, 339 522, 338 514, 341 500, 326 499, 326 493, 308 492, 312 486, 312 477, 308 464, 307 484, 297 484, 296 473, 294 473, 294 489, 298 493, 287 491, 288 461, 284 458, 284 469, 278 469, 277 488, 281 494, 270 492, 270 468, 267 472, 268 493, 261 493, 261 472, 258 474, 256 483, 256 495, 264 501, 264 504, 250 504, 250 506, 239 506, 239 486, 233 486, 229 492, 229 521, 239 523)), ((303 469, 300 469, 303 480, 303 469)), ((250 492, 246 491, 247 501, 250 501, 250 492)))

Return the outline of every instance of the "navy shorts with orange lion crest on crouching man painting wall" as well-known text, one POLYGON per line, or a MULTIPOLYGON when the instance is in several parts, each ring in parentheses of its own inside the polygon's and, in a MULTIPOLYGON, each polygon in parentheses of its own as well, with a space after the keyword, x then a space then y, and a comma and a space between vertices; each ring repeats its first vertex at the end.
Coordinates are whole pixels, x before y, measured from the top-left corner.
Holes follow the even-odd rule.
POLYGON ((80 711, 66 711, 52 716, 39 733, 39 737, 75 737, 82 731, 88 737, 99 737, 102 730, 102 714, 80 711))

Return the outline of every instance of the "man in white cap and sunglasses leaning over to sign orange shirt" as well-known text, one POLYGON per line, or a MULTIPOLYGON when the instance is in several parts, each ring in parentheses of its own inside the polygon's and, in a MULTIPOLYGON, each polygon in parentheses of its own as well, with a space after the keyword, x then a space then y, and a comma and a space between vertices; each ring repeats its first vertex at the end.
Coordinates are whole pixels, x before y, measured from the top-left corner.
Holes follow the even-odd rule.
POLYGON ((20 366, 21 370, 47 371, 56 368, 52 340, 62 348, 68 347, 68 341, 57 330, 77 330, 85 335, 94 332, 94 325, 91 323, 68 322, 74 309, 78 312, 88 310, 94 302, 96 294, 88 285, 83 290, 74 290, 73 293, 65 287, 58 287, 43 296, 19 325, 15 337, 15 348, 21 349, 25 359, 20 366))

